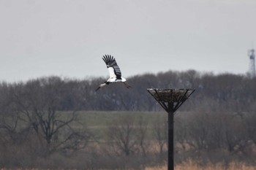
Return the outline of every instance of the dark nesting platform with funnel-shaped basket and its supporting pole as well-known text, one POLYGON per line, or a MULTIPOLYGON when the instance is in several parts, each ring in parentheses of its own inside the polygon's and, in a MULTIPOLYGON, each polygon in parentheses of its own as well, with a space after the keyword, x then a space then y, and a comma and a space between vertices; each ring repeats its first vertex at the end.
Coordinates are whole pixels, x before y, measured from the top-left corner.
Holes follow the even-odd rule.
POLYGON ((181 107, 195 89, 148 88, 148 93, 157 100, 168 114, 168 170, 174 170, 174 112, 181 107))

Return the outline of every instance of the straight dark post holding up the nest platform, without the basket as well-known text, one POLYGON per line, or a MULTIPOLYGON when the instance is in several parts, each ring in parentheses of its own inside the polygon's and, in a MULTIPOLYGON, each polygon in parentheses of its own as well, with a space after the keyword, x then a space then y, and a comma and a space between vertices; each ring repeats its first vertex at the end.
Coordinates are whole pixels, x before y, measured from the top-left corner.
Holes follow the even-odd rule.
POLYGON ((168 170, 174 170, 174 152, 173 152, 173 136, 174 136, 174 112, 173 103, 168 103, 168 170))

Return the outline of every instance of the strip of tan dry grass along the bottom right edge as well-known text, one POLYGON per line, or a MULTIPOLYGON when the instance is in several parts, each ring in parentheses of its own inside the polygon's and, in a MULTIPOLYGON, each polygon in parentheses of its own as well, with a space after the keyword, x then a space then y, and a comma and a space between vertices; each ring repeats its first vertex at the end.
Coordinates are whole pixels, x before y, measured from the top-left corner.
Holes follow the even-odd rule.
MULTIPOLYGON (((151 167, 146 170, 166 170, 167 166, 151 167)), ((244 163, 230 163, 228 167, 225 167, 222 163, 217 165, 200 166, 195 162, 188 161, 181 165, 175 166, 176 170, 255 170, 256 166, 246 166, 244 163)))

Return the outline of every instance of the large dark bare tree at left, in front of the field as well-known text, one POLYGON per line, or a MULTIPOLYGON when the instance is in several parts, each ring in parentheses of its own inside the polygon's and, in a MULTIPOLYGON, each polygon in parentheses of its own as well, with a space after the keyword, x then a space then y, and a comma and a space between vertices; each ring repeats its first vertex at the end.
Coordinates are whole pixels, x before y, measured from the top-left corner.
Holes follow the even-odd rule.
POLYGON ((20 120, 43 139, 45 155, 57 150, 77 150, 84 147, 90 137, 87 130, 72 127, 71 124, 78 120, 76 109, 68 115, 59 112, 66 88, 60 78, 50 77, 15 85, 12 90, 20 120))

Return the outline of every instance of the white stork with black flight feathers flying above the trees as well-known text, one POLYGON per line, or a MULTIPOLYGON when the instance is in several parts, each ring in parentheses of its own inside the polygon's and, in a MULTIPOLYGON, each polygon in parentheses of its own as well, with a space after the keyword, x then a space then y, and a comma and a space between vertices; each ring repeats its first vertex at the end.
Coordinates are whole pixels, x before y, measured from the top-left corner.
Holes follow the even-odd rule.
MULTIPOLYGON (((103 61, 105 61, 107 65, 110 77, 103 84, 99 85, 99 88, 102 88, 105 85, 109 85, 110 83, 113 83, 113 82, 123 82, 127 88, 131 88, 131 86, 125 83, 127 80, 124 77, 121 77, 121 71, 119 69, 119 66, 116 63, 116 59, 113 58, 113 56, 111 55, 103 55, 102 59, 103 61)), ((99 88, 97 88, 95 91, 99 90, 99 88)))

